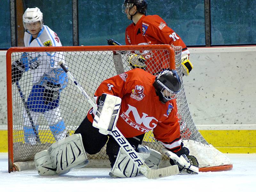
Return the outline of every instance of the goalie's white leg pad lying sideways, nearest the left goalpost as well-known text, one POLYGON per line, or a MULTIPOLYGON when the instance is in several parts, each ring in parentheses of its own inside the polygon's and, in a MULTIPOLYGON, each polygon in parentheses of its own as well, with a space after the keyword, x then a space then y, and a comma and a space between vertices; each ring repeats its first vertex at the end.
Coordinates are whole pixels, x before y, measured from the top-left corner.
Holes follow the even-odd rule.
POLYGON ((35 155, 39 175, 62 175, 72 168, 88 164, 81 134, 74 134, 53 143, 48 150, 35 155))

